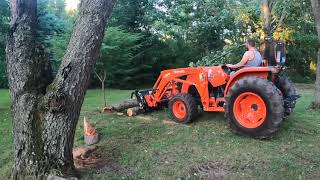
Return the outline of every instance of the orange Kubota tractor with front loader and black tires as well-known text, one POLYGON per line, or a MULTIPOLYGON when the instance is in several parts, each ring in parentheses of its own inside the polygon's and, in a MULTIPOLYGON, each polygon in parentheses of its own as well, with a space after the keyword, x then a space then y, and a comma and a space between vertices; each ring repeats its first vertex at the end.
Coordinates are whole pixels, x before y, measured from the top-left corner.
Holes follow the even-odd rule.
POLYGON ((178 123, 190 123, 201 108, 225 112, 237 133, 268 138, 299 98, 294 84, 281 75, 285 57, 277 53, 274 60, 273 66, 236 71, 225 65, 165 70, 152 89, 134 95, 145 110, 168 107, 178 123))

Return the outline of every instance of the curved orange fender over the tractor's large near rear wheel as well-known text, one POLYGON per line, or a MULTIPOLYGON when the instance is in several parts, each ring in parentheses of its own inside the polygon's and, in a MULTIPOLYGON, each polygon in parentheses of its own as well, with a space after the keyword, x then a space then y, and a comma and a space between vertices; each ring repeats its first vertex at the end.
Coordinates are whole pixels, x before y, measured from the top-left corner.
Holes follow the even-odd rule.
POLYGON ((230 79, 226 85, 224 95, 227 96, 229 89, 232 87, 232 85, 239 81, 242 78, 245 77, 259 77, 262 79, 268 79, 269 76, 272 74, 273 67, 248 67, 238 70, 235 74, 230 76, 230 79))

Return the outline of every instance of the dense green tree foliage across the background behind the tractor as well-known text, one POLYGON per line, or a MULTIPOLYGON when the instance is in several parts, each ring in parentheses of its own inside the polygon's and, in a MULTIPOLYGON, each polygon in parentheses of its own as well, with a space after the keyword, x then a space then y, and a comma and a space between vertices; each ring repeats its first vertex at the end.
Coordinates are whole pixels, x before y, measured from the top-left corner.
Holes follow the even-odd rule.
MULTIPOLYGON (((311 62, 315 63, 318 41, 310 1, 272 2, 272 31, 275 39, 287 43, 287 65, 291 71, 288 73, 298 73, 312 81, 315 74, 309 67, 311 62)), ((9 11, 7 1, 0 3, 2 87, 7 84, 4 43, 9 11)), ((133 89, 150 86, 164 69, 188 66, 191 62, 236 63, 245 51, 241 44, 246 38, 263 39, 260 3, 259 0, 118 0, 97 71, 108 71, 108 87, 133 89)), ((40 0, 38 4, 39 41, 57 70, 77 11, 65 11, 64 0, 40 0)), ((92 77, 91 87, 99 86, 97 78, 92 77)))

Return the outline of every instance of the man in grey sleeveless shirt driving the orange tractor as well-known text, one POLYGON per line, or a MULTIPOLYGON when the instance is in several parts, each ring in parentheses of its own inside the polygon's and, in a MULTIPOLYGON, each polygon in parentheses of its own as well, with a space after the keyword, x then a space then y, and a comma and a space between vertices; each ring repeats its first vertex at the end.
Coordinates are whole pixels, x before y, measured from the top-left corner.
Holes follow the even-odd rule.
POLYGON ((227 64, 231 69, 237 69, 240 67, 259 67, 262 64, 262 56, 256 48, 256 43, 252 39, 248 39, 246 42, 247 52, 244 53, 242 60, 235 65, 227 64))

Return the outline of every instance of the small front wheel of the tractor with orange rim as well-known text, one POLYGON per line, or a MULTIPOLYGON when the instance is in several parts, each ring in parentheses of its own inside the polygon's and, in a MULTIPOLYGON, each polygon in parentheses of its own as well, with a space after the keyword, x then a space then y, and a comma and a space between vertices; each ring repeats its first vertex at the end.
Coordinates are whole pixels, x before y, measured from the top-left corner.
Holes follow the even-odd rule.
POLYGON ((169 101, 169 110, 175 122, 187 124, 197 115, 198 105, 190 94, 181 93, 169 101))

